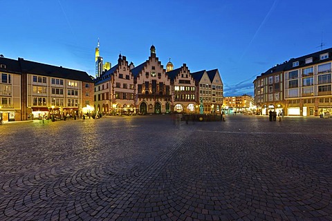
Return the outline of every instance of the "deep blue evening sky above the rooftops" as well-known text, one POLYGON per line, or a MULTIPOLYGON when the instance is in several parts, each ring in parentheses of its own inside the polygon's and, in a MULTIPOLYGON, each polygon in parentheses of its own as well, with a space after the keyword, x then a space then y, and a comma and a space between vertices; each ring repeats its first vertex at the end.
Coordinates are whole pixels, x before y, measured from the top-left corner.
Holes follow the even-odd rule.
POLYGON ((332 46, 332 1, 0 0, 0 54, 86 71, 95 47, 116 64, 156 55, 191 72, 219 69, 224 96, 252 95, 275 64, 332 46))

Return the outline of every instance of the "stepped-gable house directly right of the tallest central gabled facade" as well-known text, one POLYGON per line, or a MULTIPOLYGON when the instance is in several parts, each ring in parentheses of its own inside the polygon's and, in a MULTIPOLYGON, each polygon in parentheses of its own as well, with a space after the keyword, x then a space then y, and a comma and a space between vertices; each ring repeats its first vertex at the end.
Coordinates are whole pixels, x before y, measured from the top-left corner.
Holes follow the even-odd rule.
POLYGON ((187 65, 183 64, 181 68, 170 70, 166 74, 171 80, 172 110, 176 113, 198 113, 199 100, 195 79, 190 75, 187 65))

